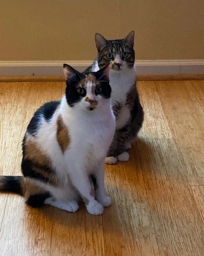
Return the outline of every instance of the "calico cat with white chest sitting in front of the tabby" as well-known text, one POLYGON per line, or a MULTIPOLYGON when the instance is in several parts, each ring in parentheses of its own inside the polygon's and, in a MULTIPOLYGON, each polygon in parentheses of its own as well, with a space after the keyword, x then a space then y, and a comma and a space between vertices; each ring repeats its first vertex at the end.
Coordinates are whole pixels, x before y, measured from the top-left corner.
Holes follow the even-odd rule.
POLYGON ((108 72, 78 73, 64 64, 65 95, 39 108, 27 127, 23 176, 0 176, 0 190, 25 196, 33 207, 49 204, 75 212, 80 198, 90 214, 102 214, 110 197, 104 160, 116 128, 108 72))

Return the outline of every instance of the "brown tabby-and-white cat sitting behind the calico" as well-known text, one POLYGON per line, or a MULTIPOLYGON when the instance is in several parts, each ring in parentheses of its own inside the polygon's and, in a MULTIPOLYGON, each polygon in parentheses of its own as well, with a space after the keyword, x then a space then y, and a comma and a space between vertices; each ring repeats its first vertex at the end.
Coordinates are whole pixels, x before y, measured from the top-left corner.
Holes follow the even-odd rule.
POLYGON ((112 88, 112 107, 116 116, 116 132, 105 162, 115 164, 117 160, 128 161, 127 149, 143 123, 143 108, 135 86, 134 31, 124 39, 106 40, 96 33, 98 56, 87 71, 97 71, 112 62, 109 73, 112 88))

